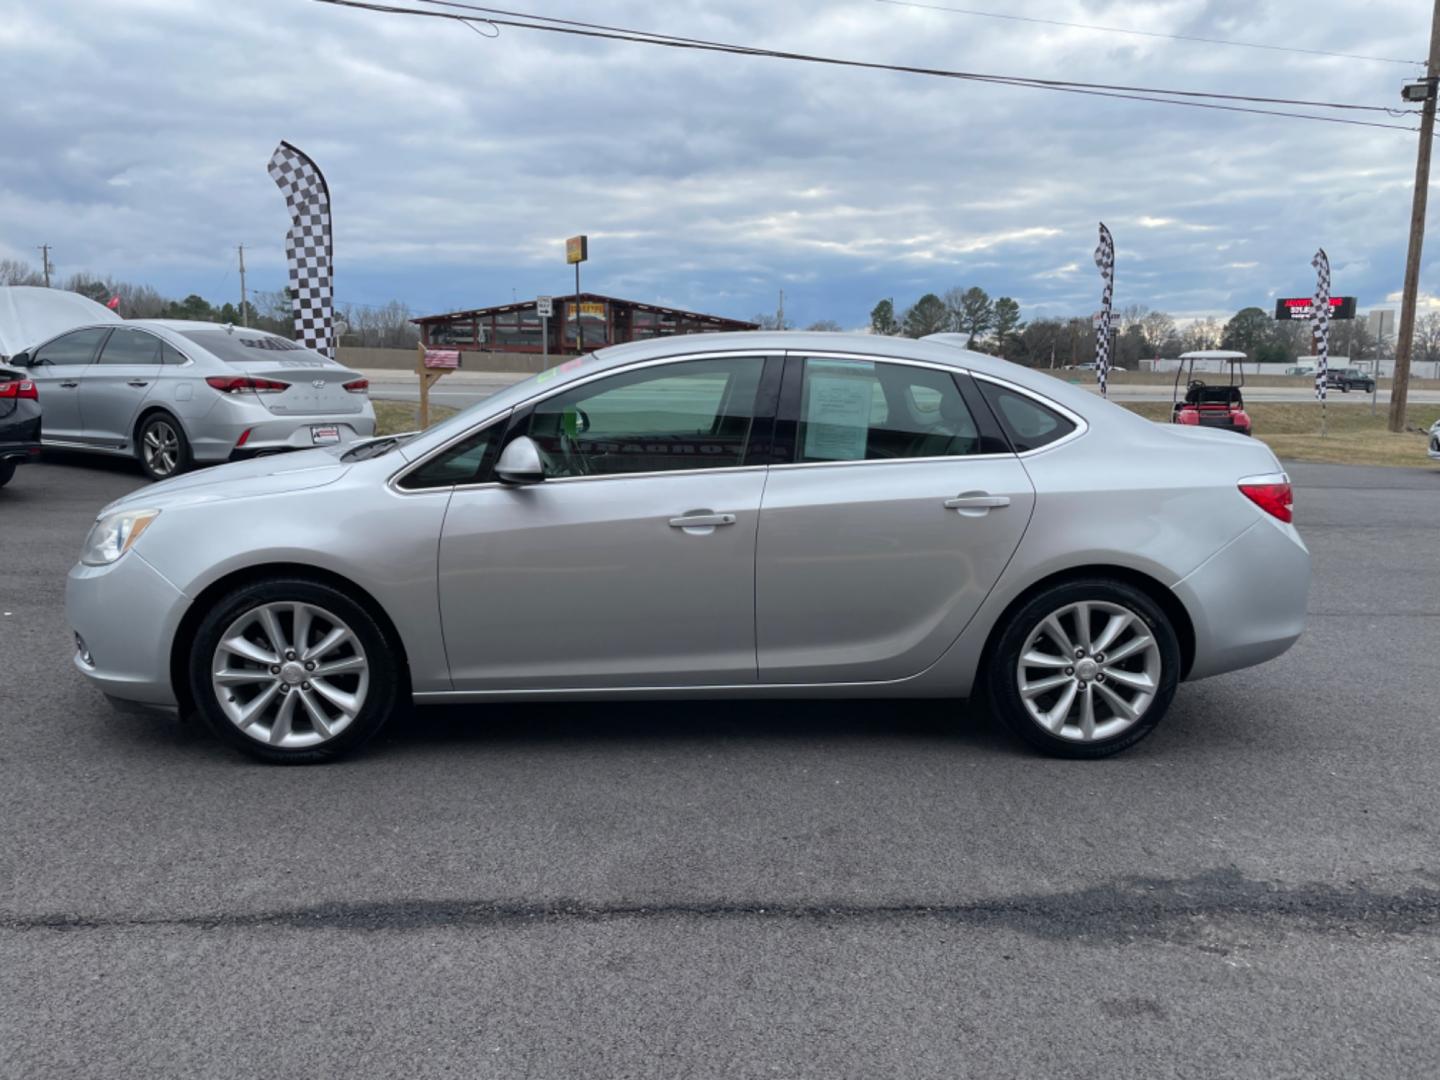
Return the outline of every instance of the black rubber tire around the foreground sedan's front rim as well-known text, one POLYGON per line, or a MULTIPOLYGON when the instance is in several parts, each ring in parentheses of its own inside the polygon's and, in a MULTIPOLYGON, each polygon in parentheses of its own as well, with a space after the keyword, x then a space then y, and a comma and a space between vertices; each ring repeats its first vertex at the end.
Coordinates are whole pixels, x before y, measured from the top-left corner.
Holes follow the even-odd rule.
MULTIPOLYGON (((272 765, 320 765, 357 750, 409 701, 409 678, 400 657, 400 648, 390 641, 380 624, 346 593, 305 577, 282 577, 242 586, 220 598, 206 612, 190 647, 190 697, 210 730, 235 749, 272 765), (369 662, 369 684, 354 719, 334 737, 308 747, 271 746, 242 732, 226 716, 212 684, 212 665, 216 662, 222 635, 236 619, 261 605, 295 602, 331 612, 346 624, 369 662)), ((310 684, 305 685, 308 688, 310 684)), ((304 716, 298 706, 297 714, 304 716)))

